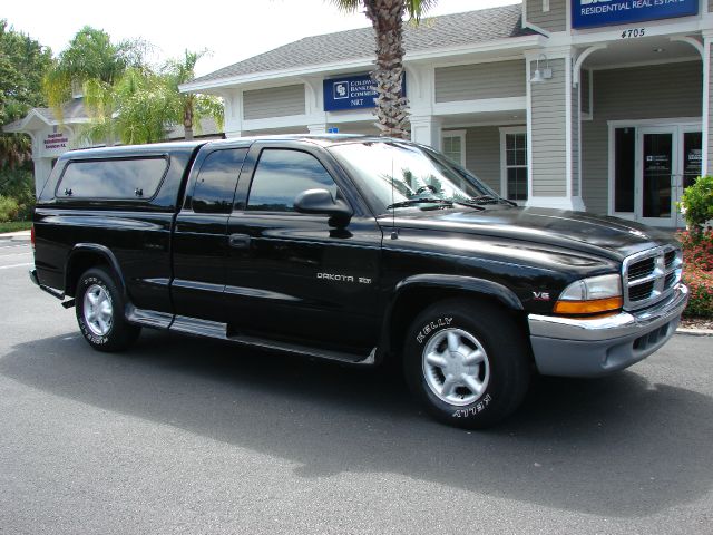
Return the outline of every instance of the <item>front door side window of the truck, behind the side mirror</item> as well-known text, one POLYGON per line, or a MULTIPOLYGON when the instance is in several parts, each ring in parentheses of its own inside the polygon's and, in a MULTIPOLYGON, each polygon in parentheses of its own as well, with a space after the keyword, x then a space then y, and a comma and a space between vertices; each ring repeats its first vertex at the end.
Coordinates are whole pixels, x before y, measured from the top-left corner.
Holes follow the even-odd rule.
POLYGON ((294 198, 305 189, 329 189, 336 198, 334 181, 311 154, 266 148, 262 152, 247 198, 247 210, 294 212, 294 198))

